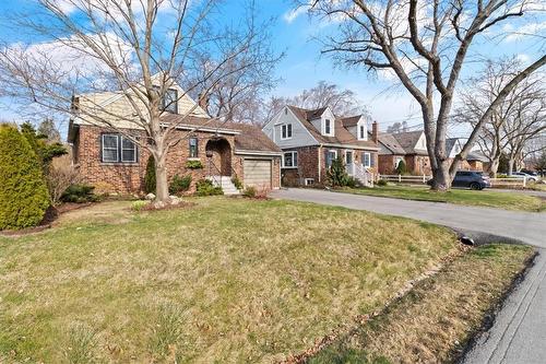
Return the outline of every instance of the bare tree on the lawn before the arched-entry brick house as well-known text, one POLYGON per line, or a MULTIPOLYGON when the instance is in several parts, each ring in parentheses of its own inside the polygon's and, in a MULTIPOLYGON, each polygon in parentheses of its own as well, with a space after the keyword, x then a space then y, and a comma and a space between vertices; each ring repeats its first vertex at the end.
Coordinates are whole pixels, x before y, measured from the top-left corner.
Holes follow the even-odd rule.
MULTIPOLYGON (((78 109, 78 116, 146 149, 155 160, 156 199, 168 201, 167 152, 182 138, 175 132, 179 124, 199 106, 185 109, 180 122, 165 124, 162 116, 169 104, 192 93, 207 94, 225 78, 261 62, 247 57, 260 42, 260 24, 245 19, 221 25, 216 20, 222 9, 214 0, 36 0, 36 5, 33 14, 13 16, 13 26, 49 42, 41 48, 1 47, 4 90, 63 113, 74 111, 70 110, 73 95, 92 95, 86 98, 91 106, 78 109), (55 59, 60 52, 62 61, 55 59), (200 60, 205 54, 203 70, 200 60), (71 62, 76 66, 67 66, 71 62), (186 86, 178 99, 167 98, 174 82, 186 86), (103 107, 93 95, 105 91, 120 92, 132 113, 103 107), (129 129, 141 130, 143 137, 129 129)), ((210 120, 217 119, 219 115, 210 120)))

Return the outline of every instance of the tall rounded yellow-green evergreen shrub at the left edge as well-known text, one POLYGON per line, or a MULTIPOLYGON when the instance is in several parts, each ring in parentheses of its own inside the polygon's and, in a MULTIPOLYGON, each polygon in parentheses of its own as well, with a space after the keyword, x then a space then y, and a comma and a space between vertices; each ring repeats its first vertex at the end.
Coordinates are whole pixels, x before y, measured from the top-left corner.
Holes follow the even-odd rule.
POLYGON ((15 127, 0 125, 0 230, 35 226, 48 207, 36 153, 15 127))

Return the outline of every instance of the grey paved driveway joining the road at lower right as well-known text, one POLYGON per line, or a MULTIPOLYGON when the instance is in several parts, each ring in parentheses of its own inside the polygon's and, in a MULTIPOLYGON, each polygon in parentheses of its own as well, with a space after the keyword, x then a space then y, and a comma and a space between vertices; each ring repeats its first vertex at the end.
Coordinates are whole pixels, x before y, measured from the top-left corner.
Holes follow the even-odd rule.
POLYGON ((272 197, 412 218, 459 231, 484 232, 518 239, 537 247, 539 256, 535 266, 508 297, 494 326, 478 338, 464 363, 546 363, 546 213, 312 189, 278 190, 272 197))

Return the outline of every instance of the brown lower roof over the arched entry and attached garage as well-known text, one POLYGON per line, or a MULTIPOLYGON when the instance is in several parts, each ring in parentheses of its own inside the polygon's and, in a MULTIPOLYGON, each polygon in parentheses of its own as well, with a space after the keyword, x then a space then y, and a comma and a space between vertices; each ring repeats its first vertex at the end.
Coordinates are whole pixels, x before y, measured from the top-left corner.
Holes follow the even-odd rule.
MULTIPOLYGON (((235 136, 235 149, 256 152, 280 153, 281 149, 259 128, 250 124, 226 122, 200 117, 183 117, 181 115, 168 114, 162 117, 163 121, 179 122, 181 126, 195 126, 206 129, 237 131, 235 136)), ((198 129, 199 130, 199 129, 198 129)))

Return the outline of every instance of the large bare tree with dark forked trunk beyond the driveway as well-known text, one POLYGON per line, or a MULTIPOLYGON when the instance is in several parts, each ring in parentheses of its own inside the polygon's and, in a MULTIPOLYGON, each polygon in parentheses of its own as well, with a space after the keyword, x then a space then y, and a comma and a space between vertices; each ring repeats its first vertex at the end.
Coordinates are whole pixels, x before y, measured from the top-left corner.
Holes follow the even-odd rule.
POLYGON ((348 67, 389 72, 417 101, 432 168, 432 189, 447 190, 459 163, 497 105, 546 63, 546 56, 541 56, 506 83, 484 110, 462 151, 450 162, 446 151, 448 120, 471 45, 484 32, 522 16, 530 5, 531 1, 521 0, 316 0, 310 11, 340 24, 336 34, 324 38, 324 52, 348 67))

